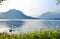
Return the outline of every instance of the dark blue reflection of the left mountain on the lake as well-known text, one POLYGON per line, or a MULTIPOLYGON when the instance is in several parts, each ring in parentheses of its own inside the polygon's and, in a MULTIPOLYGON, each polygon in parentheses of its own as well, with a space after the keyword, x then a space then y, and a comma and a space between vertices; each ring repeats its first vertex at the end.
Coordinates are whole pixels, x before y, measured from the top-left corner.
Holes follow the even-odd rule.
POLYGON ((17 28, 24 24, 24 21, 6 21, 9 28, 17 28))

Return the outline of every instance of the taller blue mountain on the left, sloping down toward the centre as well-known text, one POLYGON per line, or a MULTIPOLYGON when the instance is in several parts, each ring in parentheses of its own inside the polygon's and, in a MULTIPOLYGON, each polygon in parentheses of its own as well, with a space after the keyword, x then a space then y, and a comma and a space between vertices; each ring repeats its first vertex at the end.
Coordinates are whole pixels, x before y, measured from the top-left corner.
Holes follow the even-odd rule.
POLYGON ((0 13, 0 19, 37 19, 34 17, 26 16, 22 11, 11 9, 7 12, 0 13))

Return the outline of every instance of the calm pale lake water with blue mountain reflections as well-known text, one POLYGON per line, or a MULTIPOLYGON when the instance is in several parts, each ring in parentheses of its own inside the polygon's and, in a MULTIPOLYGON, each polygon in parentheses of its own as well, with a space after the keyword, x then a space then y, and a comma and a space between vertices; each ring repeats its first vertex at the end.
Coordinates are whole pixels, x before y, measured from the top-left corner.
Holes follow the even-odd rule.
POLYGON ((60 20, 0 20, 0 32, 32 32, 34 30, 60 29, 60 20))

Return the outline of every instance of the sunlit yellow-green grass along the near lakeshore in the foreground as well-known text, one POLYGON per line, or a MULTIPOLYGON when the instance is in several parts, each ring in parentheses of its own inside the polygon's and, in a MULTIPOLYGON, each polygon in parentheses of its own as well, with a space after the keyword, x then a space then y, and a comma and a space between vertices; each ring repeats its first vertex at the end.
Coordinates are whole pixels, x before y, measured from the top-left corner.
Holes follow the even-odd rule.
POLYGON ((60 30, 41 30, 20 34, 8 34, 3 32, 0 33, 0 39, 60 39, 60 30))

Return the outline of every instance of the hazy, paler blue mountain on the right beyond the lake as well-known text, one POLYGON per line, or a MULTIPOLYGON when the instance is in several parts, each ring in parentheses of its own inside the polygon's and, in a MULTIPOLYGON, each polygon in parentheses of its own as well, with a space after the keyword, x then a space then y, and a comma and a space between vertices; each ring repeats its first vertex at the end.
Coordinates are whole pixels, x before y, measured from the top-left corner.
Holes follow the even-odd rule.
POLYGON ((43 20, 60 20, 60 13, 58 12, 45 12, 39 16, 43 20))

